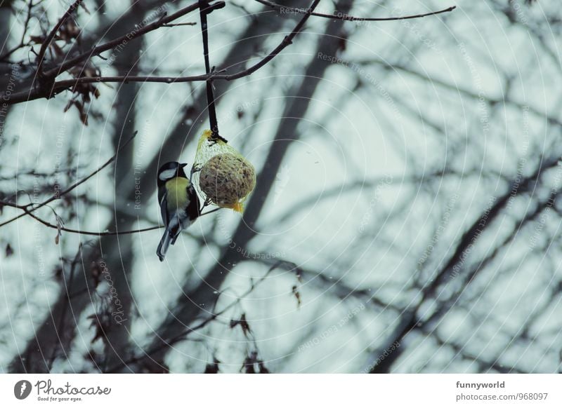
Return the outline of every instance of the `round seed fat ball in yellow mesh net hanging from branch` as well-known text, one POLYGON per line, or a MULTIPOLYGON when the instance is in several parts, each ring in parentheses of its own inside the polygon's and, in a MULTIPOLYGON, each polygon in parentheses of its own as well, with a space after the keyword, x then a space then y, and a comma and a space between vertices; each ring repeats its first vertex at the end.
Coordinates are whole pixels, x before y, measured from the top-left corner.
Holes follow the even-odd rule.
POLYGON ((193 185, 200 196, 221 208, 244 210, 244 201, 256 186, 256 170, 239 151, 204 130, 193 161, 200 171, 193 185))

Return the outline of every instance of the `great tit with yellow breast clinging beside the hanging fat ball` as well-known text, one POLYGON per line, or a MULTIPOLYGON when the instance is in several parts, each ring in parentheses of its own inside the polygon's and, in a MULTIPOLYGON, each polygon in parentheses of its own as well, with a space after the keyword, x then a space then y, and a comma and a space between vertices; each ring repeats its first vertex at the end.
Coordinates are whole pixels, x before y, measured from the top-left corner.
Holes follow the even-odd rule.
POLYGON ((182 229, 201 215, 200 201, 183 168, 188 163, 169 161, 158 170, 158 202, 166 226, 156 254, 164 261, 168 247, 176 243, 182 229))

